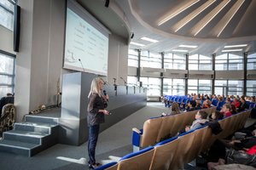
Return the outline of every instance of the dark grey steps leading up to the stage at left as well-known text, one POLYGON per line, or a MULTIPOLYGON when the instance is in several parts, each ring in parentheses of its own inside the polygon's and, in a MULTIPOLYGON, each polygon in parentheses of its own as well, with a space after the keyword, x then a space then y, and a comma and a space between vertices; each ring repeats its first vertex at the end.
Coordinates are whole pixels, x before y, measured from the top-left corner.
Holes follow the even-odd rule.
POLYGON ((15 123, 13 130, 3 133, 0 151, 33 156, 57 144, 59 131, 57 118, 38 116, 37 119, 36 116, 28 116, 25 120, 26 122, 15 123))

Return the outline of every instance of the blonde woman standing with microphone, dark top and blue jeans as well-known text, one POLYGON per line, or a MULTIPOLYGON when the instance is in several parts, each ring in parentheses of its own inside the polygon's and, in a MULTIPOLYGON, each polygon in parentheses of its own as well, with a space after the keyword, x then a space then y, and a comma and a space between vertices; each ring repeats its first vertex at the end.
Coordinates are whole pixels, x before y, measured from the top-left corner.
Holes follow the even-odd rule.
POLYGON ((100 130, 100 123, 105 122, 105 115, 109 115, 109 111, 105 108, 108 94, 102 95, 103 80, 102 78, 94 78, 91 82, 90 93, 88 95, 88 107, 87 107, 87 123, 89 127, 89 139, 88 139, 88 155, 89 155, 89 167, 95 169, 101 166, 100 163, 96 163, 95 150, 96 143, 100 130))

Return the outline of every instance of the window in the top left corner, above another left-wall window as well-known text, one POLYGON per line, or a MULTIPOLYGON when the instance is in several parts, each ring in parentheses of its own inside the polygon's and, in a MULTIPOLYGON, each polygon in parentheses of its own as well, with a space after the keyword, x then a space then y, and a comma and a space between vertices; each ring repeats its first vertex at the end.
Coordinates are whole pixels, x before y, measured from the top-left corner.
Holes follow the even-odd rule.
POLYGON ((0 25, 11 31, 14 30, 14 9, 15 1, 0 1, 0 25))

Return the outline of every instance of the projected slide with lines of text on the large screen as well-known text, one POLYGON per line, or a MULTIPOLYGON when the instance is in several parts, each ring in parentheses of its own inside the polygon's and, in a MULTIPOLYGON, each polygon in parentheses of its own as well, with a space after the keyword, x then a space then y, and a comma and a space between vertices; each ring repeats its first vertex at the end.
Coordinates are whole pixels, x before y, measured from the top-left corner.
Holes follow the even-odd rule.
POLYGON ((108 37, 67 8, 64 68, 108 75, 108 37))

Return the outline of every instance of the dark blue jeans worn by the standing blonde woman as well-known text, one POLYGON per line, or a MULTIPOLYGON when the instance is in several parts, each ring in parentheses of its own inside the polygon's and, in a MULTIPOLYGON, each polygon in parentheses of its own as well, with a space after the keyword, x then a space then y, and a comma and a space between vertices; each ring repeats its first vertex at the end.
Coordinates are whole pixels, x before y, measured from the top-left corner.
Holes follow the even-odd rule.
POLYGON ((89 163, 91 165, 96 163, 95 150, 96 150, 96 144, 99 136, 99 131, 100 131, 99 124, 89 127, 88 154, 89 154, 89 163))

